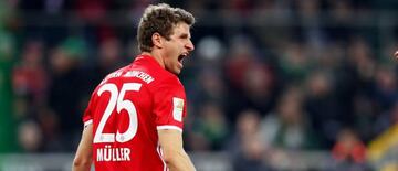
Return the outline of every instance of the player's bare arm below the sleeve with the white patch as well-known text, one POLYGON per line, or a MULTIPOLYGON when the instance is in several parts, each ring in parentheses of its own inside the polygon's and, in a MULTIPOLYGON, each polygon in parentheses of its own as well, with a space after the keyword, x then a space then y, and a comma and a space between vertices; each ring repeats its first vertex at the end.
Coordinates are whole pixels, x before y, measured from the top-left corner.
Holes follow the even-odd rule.
POLYGON ((195 171, 193 163, 182 148, 182 132, 175 129, 159 129, 163 158, 170 171, 195 171))

